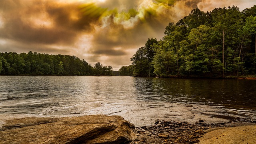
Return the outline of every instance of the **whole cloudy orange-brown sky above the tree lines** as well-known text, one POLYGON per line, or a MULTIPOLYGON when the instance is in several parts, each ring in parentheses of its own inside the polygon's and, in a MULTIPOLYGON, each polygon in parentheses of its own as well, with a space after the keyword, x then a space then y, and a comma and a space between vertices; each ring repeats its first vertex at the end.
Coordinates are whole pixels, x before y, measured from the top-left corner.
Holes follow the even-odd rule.
POLYGON ((191 10, 256 0, 0 0, 0 52, 74 55, 119 70, 148 38, 191 10))

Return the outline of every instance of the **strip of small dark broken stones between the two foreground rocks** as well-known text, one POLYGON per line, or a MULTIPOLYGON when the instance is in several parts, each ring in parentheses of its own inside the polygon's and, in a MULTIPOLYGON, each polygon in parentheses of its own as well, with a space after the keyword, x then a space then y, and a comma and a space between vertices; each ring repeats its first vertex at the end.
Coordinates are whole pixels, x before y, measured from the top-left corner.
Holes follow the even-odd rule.
MULTIPOLYGON (((194 144, 199 142, 198 138, 202 137, 206 133, 204 130, 229 126, 228 124, 232 124, 232 122, 241 121, 241 119, 233 119, 226 123, 206 124, 203 120, 198 120, 196 124, 188 124, 187 122, 157 119, 155 124, 151 126, 136 127, 136 132, 140 134, 137 135, 139 137, 137 142, 138 144, 194 144)), ((248 120, 244 120, 243 122, 246 121, 248 120)), ((251 120, 250 122, 255 122, 255 120, 251 120)))

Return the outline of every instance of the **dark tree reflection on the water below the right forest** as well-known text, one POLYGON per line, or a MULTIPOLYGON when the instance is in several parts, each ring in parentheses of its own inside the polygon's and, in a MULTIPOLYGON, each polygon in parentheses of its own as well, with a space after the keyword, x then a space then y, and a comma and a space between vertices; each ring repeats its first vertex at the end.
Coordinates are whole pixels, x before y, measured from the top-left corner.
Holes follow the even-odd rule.
POLYGON ((184 102, 228 108, 256 106, 255 80, 134 78, 140 101, 184 102))

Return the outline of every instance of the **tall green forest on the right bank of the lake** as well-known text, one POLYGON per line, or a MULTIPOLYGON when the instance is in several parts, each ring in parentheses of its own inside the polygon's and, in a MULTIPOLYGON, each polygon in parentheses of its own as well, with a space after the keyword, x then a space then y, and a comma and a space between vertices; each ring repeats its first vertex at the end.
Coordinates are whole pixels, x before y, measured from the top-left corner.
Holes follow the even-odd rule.
POLYGON ((166 26, 162 40, 148 38, 122 66, 120 75, 246 76, 256 75, 256 5, 210 12, 194 9, 166 26))

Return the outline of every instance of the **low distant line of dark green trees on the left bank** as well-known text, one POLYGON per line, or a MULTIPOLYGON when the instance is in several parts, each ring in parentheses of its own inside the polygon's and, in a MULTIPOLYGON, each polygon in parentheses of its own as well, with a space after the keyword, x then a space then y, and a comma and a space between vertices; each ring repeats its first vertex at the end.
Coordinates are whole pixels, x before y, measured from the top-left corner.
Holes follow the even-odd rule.
POLYGON ((94 67, 76 56, 49 55, 37 52, 17 54, 0 53, 1 75, 56 75, 56 76, 92 76, 112 75, 112 66, 103 66, 97 62, 94 67))

